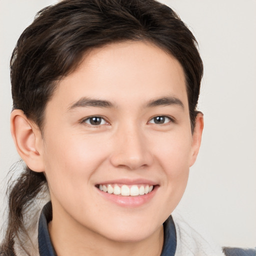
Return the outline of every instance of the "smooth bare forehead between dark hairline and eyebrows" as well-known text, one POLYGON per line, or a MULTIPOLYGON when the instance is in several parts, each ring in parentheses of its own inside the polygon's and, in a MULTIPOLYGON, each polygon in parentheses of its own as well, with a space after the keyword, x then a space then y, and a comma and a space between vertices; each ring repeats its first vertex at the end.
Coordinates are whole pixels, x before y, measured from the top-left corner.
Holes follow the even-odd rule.
POLYGON ((173 56, 145 41, 92 49, 76 70, 59 82, 51 101, 67 107, 82 96, 107 99, 113 104, 142 104, 157 96, 175 96, 187 105, 182 66, 173 56))

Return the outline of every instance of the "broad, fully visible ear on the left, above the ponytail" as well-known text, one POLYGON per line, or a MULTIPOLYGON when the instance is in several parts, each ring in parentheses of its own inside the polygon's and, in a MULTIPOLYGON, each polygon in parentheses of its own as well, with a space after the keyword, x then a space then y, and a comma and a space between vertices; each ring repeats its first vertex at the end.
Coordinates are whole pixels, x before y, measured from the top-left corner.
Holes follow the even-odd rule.
POLYGON ((22 110, 14 109, 10 115, 10 130, 17 152, 26 165, 33 171, 44 171, 43 139, 37 125, 22 110))

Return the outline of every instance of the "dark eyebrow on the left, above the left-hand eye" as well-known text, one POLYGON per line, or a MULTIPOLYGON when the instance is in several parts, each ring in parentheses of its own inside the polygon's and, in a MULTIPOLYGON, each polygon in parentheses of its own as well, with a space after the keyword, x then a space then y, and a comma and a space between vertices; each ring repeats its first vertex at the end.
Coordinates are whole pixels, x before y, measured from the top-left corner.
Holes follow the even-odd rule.
POLYGON ((71 110, 76 107, 88 107, 88 106, 107 107, 107 108, 114 107, 114 105, 108 100, 82 97, 82 98, 78 99, 77 101, 75 101, 74 103, 72 103, 71 106, 69 106, 67 110, 71 110))

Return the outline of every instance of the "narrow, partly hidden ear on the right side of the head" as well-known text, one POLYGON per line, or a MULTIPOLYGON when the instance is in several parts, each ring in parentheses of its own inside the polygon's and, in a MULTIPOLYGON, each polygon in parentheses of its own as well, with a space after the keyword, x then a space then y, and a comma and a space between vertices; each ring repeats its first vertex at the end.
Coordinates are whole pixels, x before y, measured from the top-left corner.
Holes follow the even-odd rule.
POLYGON ((189 166, 192 166, 196 160, 202 137, 203 130, 203 113, 198 112, 195 119, 194 131, 192 134, 192 144, 191 144, 191 155, 189 166))

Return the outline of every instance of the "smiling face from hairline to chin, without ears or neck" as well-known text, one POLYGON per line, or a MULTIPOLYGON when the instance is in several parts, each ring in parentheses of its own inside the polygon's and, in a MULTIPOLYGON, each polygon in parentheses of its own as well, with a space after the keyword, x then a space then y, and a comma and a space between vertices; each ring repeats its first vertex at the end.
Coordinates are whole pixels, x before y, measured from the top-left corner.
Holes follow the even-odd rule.
POLYGON ((154 233, 184 192, 193 134, 175 58, 142 41, 91 50, 45 109, 53 221, 112 240, 154 233))

